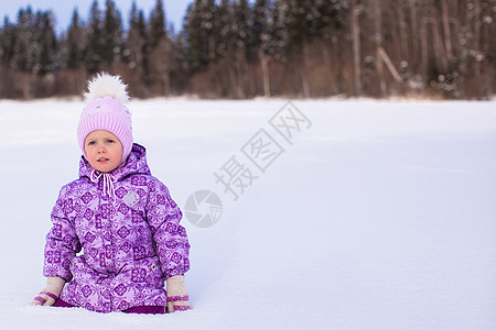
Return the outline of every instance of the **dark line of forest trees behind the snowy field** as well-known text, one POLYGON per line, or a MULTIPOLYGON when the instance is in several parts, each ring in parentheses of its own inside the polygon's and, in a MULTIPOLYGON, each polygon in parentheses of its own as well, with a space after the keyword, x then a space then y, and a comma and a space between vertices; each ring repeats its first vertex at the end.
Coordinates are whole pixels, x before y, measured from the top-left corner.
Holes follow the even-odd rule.
POLYGON ((52 11, 0 29, 0 98, 79 95, 95 73, 133 97, 489 99, 496 0, 194 0, 180 32, 158 0, 125 29, 115 1, 55 34, 52 11))

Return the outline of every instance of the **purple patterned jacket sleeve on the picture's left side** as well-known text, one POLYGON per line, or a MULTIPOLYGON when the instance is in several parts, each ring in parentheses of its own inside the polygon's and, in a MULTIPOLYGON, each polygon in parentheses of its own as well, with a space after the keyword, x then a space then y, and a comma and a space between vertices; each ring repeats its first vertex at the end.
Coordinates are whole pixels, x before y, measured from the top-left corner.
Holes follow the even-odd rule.
POLYGON ((69 213, 73 211, 73 199, 68 198, 68 187, 62 188, 58 199, 52 210, 52 229, 46 235, 43 275, 58 276, 71 282, 73 275, 69 266, 73 257, 80 251, 69 213))

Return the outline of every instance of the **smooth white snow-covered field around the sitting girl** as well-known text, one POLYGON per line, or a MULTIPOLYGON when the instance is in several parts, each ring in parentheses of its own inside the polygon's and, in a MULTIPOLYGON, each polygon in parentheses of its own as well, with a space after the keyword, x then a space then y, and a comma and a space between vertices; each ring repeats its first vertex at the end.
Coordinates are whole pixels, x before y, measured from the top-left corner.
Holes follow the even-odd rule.
POLYGON ((29 305, 84 105, 0 101, 0 328, 496 329, 496 101, 296 100, 312 124, 291 143, 269 124, 284 105, 131 101, 177 204, 223 202, 212 227, 183 220, 194 309, 131 316, 29 305), (260 129, 284 150, 265 172, 241 153, 260 129), (233 160, 257 176, 237 200, 214 176, 233 160))

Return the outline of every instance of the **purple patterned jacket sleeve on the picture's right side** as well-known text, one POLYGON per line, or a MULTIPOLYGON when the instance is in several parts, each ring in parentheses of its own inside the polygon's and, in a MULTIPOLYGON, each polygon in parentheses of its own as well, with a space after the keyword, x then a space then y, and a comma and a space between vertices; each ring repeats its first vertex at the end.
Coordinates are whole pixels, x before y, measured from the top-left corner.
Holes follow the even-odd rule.
POLYGON ((190 243, 182 212, 172 200, 169 189, 158 179, 150 187, 147 218, 165 278, 184 275, 190 270, 190 243))

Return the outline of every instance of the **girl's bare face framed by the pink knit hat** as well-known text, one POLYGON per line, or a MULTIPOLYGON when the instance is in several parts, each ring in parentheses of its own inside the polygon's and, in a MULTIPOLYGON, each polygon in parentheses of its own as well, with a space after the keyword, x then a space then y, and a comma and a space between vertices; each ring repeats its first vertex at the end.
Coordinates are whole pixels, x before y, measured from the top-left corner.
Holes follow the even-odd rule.
POLYGON ((119 139, 108 131, 93 131, 85 139, 86 158, 96 170, 105 173, 119 167, 122 152, 119 139))

